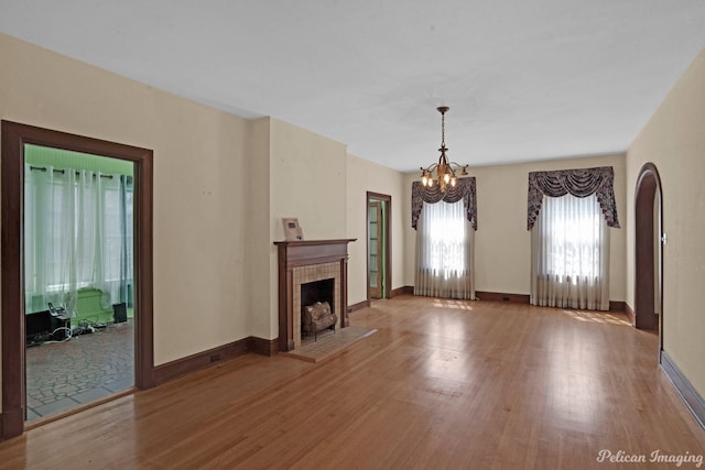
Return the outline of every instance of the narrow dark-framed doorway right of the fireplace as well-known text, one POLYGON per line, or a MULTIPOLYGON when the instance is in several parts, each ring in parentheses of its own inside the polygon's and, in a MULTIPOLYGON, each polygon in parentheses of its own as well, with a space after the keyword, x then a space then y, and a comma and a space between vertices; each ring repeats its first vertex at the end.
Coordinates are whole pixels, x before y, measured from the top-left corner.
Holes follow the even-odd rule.
POLYGON ((391 298, 391 203, 389 195, 367 193, 367 299, 391 298))

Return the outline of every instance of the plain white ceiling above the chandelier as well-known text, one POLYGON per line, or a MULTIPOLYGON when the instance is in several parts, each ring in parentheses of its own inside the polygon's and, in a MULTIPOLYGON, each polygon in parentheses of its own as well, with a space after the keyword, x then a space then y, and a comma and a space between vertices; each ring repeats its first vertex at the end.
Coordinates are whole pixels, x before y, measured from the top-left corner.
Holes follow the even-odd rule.
POLYGON ((0 31, 414 171, 441 105, 470 166, 623 152, 705 45, 705 1, 0 0, 0 31))

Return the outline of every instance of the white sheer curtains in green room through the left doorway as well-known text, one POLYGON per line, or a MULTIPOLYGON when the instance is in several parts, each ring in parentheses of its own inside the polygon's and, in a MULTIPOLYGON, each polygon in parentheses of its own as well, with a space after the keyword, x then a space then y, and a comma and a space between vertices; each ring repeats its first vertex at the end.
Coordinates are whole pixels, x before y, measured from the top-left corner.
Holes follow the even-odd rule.
POLYGON ((24 182, 25 310, 51 302, 75 316, 84 287, 101 289, 105 308, 121 302, 132 274, 124 178, 26 165, 24 182))

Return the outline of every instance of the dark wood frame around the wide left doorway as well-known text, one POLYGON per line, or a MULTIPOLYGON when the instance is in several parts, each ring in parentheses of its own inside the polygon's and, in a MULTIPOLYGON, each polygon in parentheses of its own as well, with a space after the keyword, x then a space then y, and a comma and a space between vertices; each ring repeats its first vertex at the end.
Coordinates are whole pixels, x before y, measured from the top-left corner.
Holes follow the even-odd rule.
POLYGON ((131 145, 2 121, 0 206, 2 256, 2 416, 0 438, 24 431, 24 145, 64 149, 134 163, 134 305, 138 389, 154 386, 152 311, 153 152, 131 145))

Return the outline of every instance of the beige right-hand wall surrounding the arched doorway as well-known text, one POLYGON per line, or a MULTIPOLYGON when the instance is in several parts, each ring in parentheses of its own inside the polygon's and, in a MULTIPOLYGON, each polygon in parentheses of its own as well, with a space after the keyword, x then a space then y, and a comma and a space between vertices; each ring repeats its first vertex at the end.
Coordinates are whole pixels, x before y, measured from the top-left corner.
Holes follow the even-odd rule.
MULTIPOLYGON (((627 152, 629 225, 637 177, 653 163, 663 192, 663 348, 705 395, 705 50, 673 87, 627 152)), ((634 306, 634 237, 629 233, 627 300, 634 306)), ((638 315, 638 313, 637 313, 638 315)))

